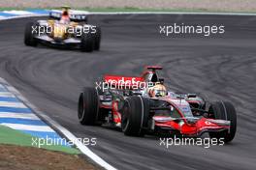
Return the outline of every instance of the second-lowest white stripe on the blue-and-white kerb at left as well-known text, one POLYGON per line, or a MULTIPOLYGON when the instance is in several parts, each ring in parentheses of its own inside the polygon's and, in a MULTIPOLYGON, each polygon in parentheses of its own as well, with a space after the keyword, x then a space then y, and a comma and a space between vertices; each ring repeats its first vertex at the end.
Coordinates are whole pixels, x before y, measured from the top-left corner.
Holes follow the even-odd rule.
POLYGON ((13 112, 0 112, 0 118, 16 118, 28 120, 40 120, 34 113, 13 113, 13 112))

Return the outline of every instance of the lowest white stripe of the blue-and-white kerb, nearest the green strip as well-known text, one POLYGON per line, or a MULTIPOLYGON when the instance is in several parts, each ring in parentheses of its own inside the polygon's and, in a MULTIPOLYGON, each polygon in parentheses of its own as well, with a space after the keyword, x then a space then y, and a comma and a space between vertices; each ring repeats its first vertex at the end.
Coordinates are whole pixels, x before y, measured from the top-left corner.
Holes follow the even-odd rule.
POLYGON ((52 128, 48 126, 28 126, 28 125, 21 125, 21 124, 0 124, 2 126, 6 126, 9 128, 14 128, 18 130, 30 130, 30 131, 42 131, 42 132, 55 132, 52 128))

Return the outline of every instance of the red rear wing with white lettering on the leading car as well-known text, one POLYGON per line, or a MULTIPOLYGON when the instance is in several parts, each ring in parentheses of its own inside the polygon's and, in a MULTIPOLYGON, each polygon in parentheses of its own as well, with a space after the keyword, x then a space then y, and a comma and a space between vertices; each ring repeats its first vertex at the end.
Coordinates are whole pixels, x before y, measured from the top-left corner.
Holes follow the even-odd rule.
POLYGON ((106 85, 114 89, 139 90, 144 88, 144 78, 135 76, 104 75, 106 85))

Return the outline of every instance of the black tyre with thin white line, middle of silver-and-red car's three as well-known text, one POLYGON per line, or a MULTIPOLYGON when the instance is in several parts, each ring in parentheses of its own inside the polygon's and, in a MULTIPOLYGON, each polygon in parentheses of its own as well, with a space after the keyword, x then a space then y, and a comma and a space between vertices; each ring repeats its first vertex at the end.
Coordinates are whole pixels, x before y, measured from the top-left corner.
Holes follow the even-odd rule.
POLYGON ((149 100, 140 96, 125 100, 121 128, 125 135, 142 136, 147 128, 149 100))

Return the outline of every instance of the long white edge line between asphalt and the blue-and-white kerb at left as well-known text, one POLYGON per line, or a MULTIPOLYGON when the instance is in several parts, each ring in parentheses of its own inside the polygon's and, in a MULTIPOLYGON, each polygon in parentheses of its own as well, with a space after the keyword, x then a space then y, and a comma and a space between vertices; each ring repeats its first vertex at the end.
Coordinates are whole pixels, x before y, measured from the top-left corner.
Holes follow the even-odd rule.
MULTIPOLYGON (((102 159, 100 156, 97 156, 94 154, 88 147, 83 145, 78 138, 71 133, 67 128, 62 127, 57 122, 51 120, 48 115, 40 111, 34 104, 29 102, 27 99, 25 99, 17 90, 15 87, 11 86, 5 79, 0 77, 0 83, 5 84, 6 88, 13 93, 17 99, 22 100, 27 106, 29 106, 42 120, 46 121, 48 125, 50 125, 52 128, 57 129, 59 132, 61 132, 63 135, 67 137, 70 141, 74 142, 74 144, 80 149, 80 152, 83 153, 85 156, 90 157, 94 162, 96 162, 98 165, 104 167, 107 170, 116 170, 111 164, 106 162, 104 159, 102 159)), ((38 126, 37 126, 38 127, 38 126)))

